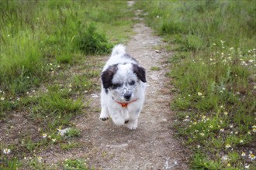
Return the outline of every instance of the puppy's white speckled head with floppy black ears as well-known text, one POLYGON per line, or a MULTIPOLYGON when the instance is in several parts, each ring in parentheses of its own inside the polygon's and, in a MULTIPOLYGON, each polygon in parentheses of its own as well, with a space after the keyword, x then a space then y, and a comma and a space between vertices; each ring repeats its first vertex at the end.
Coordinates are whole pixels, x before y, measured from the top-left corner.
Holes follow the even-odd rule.
POLYGON ((147 82, 146 73, 134 63, 115 64, 102 72, 102 85, 112 93, 114 100, 133 100, 140 81, 147 82))

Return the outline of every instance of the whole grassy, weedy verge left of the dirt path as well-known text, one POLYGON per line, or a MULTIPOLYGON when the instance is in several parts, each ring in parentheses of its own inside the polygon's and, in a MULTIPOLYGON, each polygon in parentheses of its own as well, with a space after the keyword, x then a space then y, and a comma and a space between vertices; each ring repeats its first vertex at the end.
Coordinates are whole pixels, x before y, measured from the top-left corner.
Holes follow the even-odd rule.
POLYGON ((88 168, 80 159, 48 165, 40 154, 82 145, 74 118, 86 115, 101 56, 127 41, 131 17, 121 1, 0 2, 0 169, 88 168))

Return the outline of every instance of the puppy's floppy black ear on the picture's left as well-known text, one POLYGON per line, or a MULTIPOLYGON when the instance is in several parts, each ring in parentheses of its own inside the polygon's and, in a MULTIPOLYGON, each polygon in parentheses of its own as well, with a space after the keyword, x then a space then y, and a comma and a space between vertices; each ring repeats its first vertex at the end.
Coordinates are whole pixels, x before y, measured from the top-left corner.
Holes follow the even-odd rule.
POLYGON ((105 89, 111 86, 112 78, 117 71, 117 64, 109 66, 109 68, 102 72, 102 84, 105 89))

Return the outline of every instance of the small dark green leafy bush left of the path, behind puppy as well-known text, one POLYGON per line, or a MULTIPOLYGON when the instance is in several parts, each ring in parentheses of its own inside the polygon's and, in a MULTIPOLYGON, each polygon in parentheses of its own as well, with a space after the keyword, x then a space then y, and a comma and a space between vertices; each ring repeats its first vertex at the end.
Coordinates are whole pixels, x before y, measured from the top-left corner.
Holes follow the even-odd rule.
POLYGON ((112 44, 108 42, 106 36, 96 32, 94 22, 89 24, 85 32, 79 32, 77 46, 85 54, 110 53, 110 49, 112 49, 112 44))

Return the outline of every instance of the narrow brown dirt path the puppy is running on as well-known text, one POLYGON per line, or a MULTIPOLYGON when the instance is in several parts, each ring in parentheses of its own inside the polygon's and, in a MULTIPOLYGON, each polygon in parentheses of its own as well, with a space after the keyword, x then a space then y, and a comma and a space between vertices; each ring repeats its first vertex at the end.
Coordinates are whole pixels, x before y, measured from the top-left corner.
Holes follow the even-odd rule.
MULTIPOLYGON (((126 50, 147 70, 147 94, 138 122, 138 128, 130 131, 117 127, 112 121, 99 121, 99 92, 92 97, 92 104, 75 124, 81 129, 79 141, 83 147, 65 153, 50 151, 44 155, 47 162, 64 161, 65 158, 86 158, 88 165, 96 169, 187 169, 185 151, 174 132, 169 104, 171 93, 164 76, 164 51, 161 38, 144 25, 142 19, 134 25, 136 35, 126 45, 126 50), (156 50, 158 48, 158 50, 156 50), (152 66, 161 70, 152 71, 152 66)), ((106 58, 107 59, 107 58, 106 58)))

